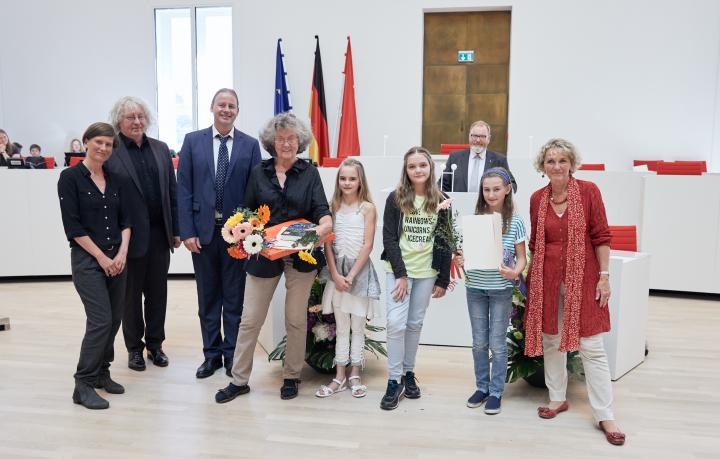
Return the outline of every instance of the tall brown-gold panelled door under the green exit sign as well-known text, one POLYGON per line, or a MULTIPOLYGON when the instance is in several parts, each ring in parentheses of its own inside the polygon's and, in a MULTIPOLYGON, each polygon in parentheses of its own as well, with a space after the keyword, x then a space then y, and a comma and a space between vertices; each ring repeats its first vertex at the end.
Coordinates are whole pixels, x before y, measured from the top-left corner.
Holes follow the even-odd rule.
POLYGON ((477 120, 490 124, 489 149, 507 152, 510 12, 425 14, 422 145, 468 143, 477 120), (475 51, 459 63, 458 51, 475 51))

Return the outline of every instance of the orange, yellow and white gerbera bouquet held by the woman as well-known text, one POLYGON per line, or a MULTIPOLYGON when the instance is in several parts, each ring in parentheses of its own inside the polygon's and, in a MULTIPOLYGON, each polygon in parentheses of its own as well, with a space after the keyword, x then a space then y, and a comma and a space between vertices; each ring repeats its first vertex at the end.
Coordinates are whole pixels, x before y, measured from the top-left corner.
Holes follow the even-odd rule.
MULTIPOLYGON (((263 249, 271 247, 265 234, 265 225, 270 221, 270 208, 262 205, 256 210, 240 207, 225 221, 222 227, 222 238, 230 244, 228 254, 236 260, 258 255, 263 249)), ((318 240, 314 231, 308 231, 293 244, 294 247, 312 246, 318 240)), ((300 250, 298 257, 306 263, 317 264, 311 250, 300 250)))

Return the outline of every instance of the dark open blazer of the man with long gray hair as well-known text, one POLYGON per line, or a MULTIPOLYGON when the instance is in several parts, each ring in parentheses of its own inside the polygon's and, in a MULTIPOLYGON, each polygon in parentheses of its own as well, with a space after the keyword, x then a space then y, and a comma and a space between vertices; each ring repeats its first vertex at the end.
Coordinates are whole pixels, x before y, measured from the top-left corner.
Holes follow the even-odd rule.
MULTIPOLYGON (((158 170, 165 238, 167 239, 168 248, 172 250, 174 247, 173 238, 179 234, 175 170, 173 169, 170 149, 167 144, 150 137, 147 139, 158 170)), ((122 176, 123 179, 133 184, 128 191, 130 219, 133 222, 128 257, 142 257, 147 252, 150 244, 150 214, 147 210, 147 203, 132 158, 130 158, 130 153, 122 141, 118 141, 118 146, 113 148, 113 154, 107 160, 106 165, 111 172, 122 176)))

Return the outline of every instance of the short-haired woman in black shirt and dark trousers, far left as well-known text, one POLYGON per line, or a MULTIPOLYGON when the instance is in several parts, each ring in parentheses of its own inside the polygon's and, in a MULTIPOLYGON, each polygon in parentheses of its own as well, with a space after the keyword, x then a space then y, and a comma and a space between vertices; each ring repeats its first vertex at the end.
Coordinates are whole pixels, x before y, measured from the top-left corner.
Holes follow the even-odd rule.
POLYGON ((58 180, 73 284, 87 316, 73 402, 93 410, 110 406, 95 388, 110 394, 125 392, 110 378, 113 342, 123 312, 131 232, 122 184, 104 167, 116 142, 111 125, 91 124, 83 134, 87 156, 77 166, 62 171, 58 180))

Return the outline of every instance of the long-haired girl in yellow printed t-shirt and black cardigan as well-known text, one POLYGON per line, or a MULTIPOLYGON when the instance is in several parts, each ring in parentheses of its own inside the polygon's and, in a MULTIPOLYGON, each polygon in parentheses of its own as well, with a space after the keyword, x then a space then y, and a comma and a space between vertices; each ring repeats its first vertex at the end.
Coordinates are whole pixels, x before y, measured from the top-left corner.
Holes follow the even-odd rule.
POLYGON ((450 282, 450 248, 434 237, 436 225, 449 218, 444 198, 430 153, 408 150, 383 216, 389 373, 384 410, 397 408, 403 397, 420 398, 414 371, 425 311, 430 297, 445 295, 450 282))

